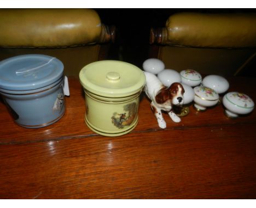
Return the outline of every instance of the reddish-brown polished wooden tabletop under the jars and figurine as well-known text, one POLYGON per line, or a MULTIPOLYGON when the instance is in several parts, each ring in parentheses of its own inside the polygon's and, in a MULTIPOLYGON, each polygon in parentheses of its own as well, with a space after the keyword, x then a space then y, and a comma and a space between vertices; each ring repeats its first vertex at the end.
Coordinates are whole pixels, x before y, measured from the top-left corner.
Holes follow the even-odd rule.
MULTIPOLYGON (((232 77, 229 91, 256 101, 256 79, 232 77)), ((143 96, 139 123, 103 137, 84 123, 79 80, 69 77, 66 113, 42 129, 14 123, 0 102, 1 199, 256 198, 256 112, 228 119, 218 105, 159 129, 143 96)))

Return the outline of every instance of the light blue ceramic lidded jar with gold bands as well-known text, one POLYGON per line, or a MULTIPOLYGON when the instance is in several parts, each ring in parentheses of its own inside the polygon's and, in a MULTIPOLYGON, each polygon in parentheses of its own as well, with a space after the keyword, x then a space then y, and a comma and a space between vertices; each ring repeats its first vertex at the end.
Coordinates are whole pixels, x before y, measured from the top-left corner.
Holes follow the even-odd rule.
POLYGON ((28 54, 0 62, 0 94, 16 124, 39 128, 65 113, 63 64, 50 56, 28 54))

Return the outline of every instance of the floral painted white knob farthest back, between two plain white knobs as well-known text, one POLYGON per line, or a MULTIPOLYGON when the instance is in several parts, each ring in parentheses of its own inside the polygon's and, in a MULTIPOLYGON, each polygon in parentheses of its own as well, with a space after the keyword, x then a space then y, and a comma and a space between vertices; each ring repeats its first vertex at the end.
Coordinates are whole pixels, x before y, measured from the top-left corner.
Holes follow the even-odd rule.
POLYGON ((199 72, 193 69, 183 70, 180 72, 180 74, 182 83, 191 87, 195 87, 202 82, 202 76, 199 74, 199 72))

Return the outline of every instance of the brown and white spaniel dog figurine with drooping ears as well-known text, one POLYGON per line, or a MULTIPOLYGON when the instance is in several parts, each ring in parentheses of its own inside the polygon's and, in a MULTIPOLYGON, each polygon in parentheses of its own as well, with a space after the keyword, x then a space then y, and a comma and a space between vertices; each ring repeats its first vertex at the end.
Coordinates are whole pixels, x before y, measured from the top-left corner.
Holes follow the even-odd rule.
POLYGON ((183 105, 184 88, 181 83, 174 82, 170 87, 164 84, 154 74, 144 71, 146 76, 146 85, 144 91, 151 102, 151 108, 158 120, 160 128, 166 128, 166 122, 162 117, 161 111, 166 111, 171 119, 179 123, 181 119, 172 111, 172 105, 183 105))

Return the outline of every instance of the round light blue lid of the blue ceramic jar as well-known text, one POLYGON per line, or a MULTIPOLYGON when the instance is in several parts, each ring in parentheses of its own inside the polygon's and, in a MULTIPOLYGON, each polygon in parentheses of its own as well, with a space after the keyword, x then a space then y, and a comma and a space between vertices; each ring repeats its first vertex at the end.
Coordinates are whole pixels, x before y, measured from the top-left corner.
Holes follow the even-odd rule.
POLYGON ((28 54, 0 62, 0 88, 34 90, 54 83, 63 76, 62 62, 51 56, 28 54))

